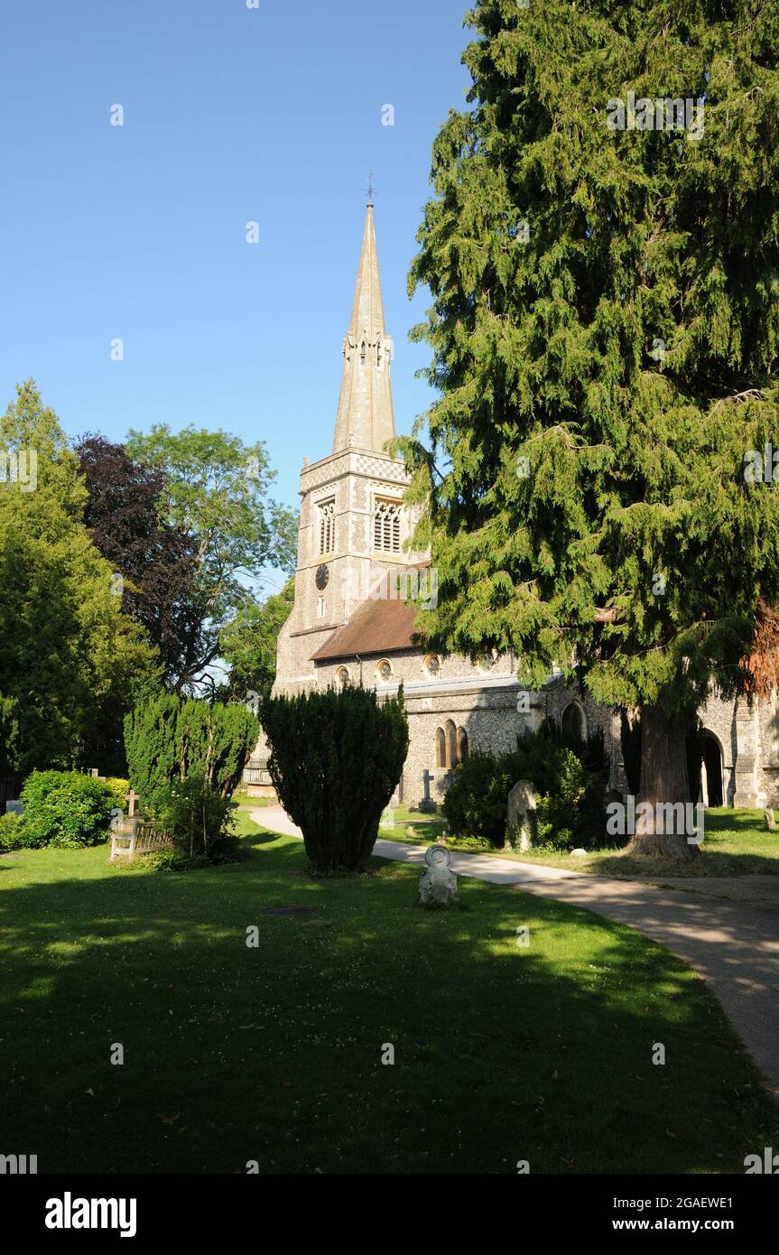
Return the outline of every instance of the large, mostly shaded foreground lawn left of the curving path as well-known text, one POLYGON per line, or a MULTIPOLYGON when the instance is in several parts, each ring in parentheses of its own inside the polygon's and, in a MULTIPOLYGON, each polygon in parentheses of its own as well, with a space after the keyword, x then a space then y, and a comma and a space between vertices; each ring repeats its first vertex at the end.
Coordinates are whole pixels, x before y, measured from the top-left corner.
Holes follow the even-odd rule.
POLYGON ((474 881, 467 910, 418 911, 418 873, 380 860, 314 881, 301 842, 241 825, 246 861, 187 875, 0 857, 0 1150, 41 1173, 564 1173, 743 1172, 779 1145, 659 946, 474 881))

